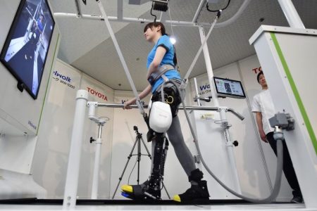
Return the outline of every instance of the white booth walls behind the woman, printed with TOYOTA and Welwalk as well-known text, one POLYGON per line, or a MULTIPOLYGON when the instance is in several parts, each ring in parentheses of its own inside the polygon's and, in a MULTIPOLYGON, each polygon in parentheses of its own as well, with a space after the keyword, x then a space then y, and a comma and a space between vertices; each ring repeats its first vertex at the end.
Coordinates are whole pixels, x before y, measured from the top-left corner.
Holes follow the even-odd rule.
MULTIPOLYGON (((232 140, 239 141, 239 146, 234 148, 237 162, 237 172, 240 178, 242 193, 247 196, 264 197, 270 192, 270 184, 274 182, 275 155, 271 147, 262 143, 257 133, 256 123, 251 113, 250 102, 254 94, 261 91, 261 87, 256 82, 256 72, 254 68, 259 68, 259 61, 256 56, 245 58, 236 63, 226 65, 223 68, 214 70, 215 76, 228 77, 230 79, 241 80, 247 99, 225 98, 219 99, 220 106, 228 106, 244 115, 245 120, 240 121, 237 117, 228 113, 228 120, 232 124, 230 133, 232 140), (263 152, 263 153, 262 153, 263 152), (268 165, 268 167, 266 167, 268 165), (268 171, 267 171, 268 169, 268 171), (268 176, 268 172, 269 175, 268 176), (270 179, 269 179, 270 177, 270 179)), ((47 198, 63 198, 65 186, 66 169, 68 162, 68 152, 70 148, 70 134, 73 127, 73 115, 75 110, 75 92, 77 89, 89 91, 89 101, 99 101, 104 103, 123 103, 133 97, 132 91, 118 91, 106 87, 96 79, 92 79, 79 70, 70 67, 61 60, 56 62, 54 71, 61 72, 61 75, 70 77, 72 86, 61 82, 61 79, 54 79, 56 75, 52 72, 51 87, 49 89, 49 100, 44 106, 41 127, 39 128, 39 141, 37 151, 32 166, 32 174, 35 181, 43 186, 47 191, 47 198), (88 89, 89 88, 89 89, 88 89), (91 91, 93 90, 93 91, 91 91), (106 96, 106 98, 105 98, 106 96)), ((200 91, 208 89, 209 82, 206 74, 197 77, 200 91)), ((194 96, 192 79, 187 87, 187 106, 194 96)), ((208 91, 206 91, 208 95, 208 91)), ((149 102, 145 98, 144 103, 149 102)), ((196 105, 194 101, 191 103, 196 105)), ((213 106, 212 103, 208 103, 213 106)), ((139 114, 139 110, 123 110, 121 108, 98 108, 98 116, 109 117, 106 123, 102 139, 101 167, 99 175, 99 195, 98 198, 112 198, 113 193, 123 172, 128 155, 135 142, 135 132, 133 126, 139 128, 143 134, 144 142, 151 152, 151 144, 147 143, 147 126, 139 114)), ((87 115, 87 114, 86 114, 87 115)), ((179 112, 182 132, 185 142, 196 154, 192 143, 192 135, 182 110, 179 112)), ((80 165, 80 181, 77 196, 79 198, 90 198, 92 185, 92 168, 94 164, 94 144, 89 143, 89 137, 97 137, 97 124, 88 120, 85 122, 84 141, 82 145, 82 158, 80 165)), ((137 152, 137 148, 133 154, 137 152)), ((142 153, 147 154, 142 144, 142 153)), ((204 155, 205 160, 209 155, 204 155)), ((136 162, 136 156, 132 156, 120 184, 127 184, 128 177, 136 162)), ((216 162, 216 160, 215 160, 216 162)), ((142 183, 149 176, 151 162, 147 156, 142 156, 140 161, 139 182, 142 183)), ((137 165, 130 177, 130 184, 137 183, 137 165)), ((182 193, 189 187, 188 179, 182 170, 178 159, 170 145, 168 158, 166 160, 166 171, 164 184, 168 193, 173 196, 182 193)), ((211 198, 213 190, 209 190, 211 198)), ((166 192, 162 191, 163 198, 167 198, 166 192)), ((123 199, 120 196, 120 186, 115 196, 116 199, 123 199)), ((282 179, 282 188, 278 200, 289 200, 291 198, 290 187, 285 178, 282 179)))

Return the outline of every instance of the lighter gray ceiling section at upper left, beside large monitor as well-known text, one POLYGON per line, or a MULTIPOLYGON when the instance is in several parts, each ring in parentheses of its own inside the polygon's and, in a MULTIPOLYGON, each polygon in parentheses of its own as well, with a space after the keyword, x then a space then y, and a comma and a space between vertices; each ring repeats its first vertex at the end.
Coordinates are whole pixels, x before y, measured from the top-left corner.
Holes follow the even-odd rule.
MULTIPOLYGON (((51 0, 54 13, 76 13, 75 0, 51 0)), ((108 16, 116 16, 117 1, 101 1, 108 16)), ((150 3, 141 6, 130 6, 128 0, 123 1, 125 17, 137 17, 148 11, 150 3)), ((101 15, 96 1, 88 0, 85 6, 80 1, 82 14, 101 15)), ((104 27, 104 22, 98 20, 87 20, 82 18, 56 18, 58 27, 61 30, 61 49, 58 58, 66 63, 73 63, 74 60, 85 55, 102 41, 108 39, 110 34, 104 27)), ((113 32, 118 32, 128 23, 111 22, 113 32)))

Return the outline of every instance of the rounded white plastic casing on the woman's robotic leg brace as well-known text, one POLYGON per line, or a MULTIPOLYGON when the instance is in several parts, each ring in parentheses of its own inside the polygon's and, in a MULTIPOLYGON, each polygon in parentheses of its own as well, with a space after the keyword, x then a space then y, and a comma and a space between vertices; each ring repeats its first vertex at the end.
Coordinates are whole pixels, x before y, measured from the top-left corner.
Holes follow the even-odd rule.
POLYGON ((160 101, 152 103, 149 115, 149 126, 151 129, 158 133, 164 133, 170 128, 172 119, 172 112, 167 103, 160 101))

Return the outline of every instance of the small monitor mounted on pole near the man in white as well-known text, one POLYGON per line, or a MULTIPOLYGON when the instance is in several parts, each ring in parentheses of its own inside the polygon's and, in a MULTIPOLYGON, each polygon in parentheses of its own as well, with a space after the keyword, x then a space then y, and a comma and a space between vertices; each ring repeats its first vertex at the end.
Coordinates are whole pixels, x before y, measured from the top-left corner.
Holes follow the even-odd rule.
POLYGON ((213 77, 218 96, 231 98, 245 98, 244 90, 240 81, 213 77))

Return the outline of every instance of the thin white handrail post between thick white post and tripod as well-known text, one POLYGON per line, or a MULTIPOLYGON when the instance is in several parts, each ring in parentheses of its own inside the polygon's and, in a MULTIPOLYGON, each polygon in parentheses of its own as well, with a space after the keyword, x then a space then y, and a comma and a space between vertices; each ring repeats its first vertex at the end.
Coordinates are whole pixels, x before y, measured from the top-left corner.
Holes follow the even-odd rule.
POLYGON ((99 167, 100 167, 100 155, 101 155, 101 133, 104 124, 98 124, 98 139, 96 140, 96 153, 94 155, 94 174, 92 177, 92 199, 97 199, 98 195, 98 182, 99 182, 99 167))

